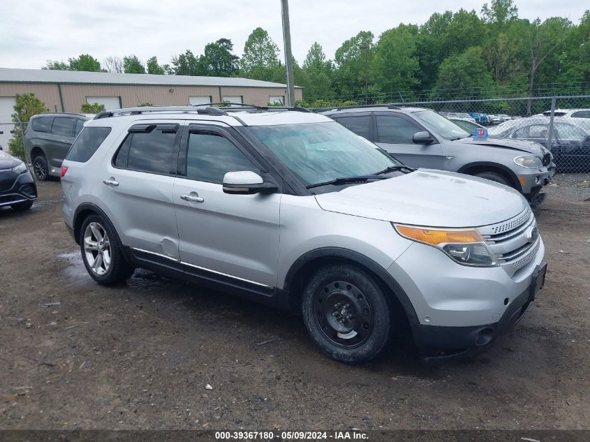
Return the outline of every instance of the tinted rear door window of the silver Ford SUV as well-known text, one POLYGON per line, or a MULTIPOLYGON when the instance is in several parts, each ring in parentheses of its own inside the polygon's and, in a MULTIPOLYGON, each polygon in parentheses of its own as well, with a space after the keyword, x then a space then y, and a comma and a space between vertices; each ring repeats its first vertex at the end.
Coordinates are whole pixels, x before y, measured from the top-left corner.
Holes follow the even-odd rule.
POLYGON ((149 132, 130 133, 117 152, 115 166, 169 174, 177 132, 178 125, 165 124, 149 132))

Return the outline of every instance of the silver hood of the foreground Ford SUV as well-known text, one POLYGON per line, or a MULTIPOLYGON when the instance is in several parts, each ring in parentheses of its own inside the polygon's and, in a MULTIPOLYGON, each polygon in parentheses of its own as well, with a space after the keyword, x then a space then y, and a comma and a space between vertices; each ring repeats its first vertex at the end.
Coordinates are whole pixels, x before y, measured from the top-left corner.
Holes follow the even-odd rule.
POLYGON ((316 200, 329 212, 430 227, 499 223, 528 204, 508 186, 430 169, 321 193, 316 200))

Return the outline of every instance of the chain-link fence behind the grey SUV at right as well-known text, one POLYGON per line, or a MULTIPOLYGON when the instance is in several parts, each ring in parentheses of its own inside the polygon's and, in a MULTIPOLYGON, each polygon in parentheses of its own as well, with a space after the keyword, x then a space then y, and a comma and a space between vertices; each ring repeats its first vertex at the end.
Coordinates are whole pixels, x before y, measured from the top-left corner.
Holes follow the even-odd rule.
POLYGON ((440 112, 465 131, 538 142, 557 173, 590 172, 590 95, 392 103, 440 112))

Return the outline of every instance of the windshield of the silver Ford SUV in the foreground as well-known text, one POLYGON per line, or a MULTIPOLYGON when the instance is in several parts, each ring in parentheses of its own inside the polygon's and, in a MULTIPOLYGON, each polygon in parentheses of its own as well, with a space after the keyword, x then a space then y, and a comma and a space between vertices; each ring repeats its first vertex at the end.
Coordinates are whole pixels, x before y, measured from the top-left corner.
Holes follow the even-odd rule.
POLYGON ((372 175, 401 164, 336 122, 248 129, 306 185, 372 175))

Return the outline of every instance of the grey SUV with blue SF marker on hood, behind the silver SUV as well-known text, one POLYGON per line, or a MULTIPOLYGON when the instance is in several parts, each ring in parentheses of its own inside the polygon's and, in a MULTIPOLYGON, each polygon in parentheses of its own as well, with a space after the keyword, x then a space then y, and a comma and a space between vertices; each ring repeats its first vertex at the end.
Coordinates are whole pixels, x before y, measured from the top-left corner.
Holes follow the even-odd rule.
POLYGON ((550 152, 537 142, 473 138, 473 131, 434 110, 360 105, 322 113, 406 165, 490 179, 516 189, 533 205, 545 199, 540 191, 555 173, 550 152))

